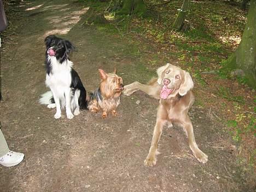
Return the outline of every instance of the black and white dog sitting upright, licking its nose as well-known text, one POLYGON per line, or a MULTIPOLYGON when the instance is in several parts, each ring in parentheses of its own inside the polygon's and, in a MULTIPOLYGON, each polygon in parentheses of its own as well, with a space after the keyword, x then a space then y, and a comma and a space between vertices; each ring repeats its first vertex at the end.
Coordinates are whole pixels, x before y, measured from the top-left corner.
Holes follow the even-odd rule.
POLYGON ((75 50, 74 45, 66 39, 50 35, 44 40, 46 45, 45 84, 51 91, 41 95, 40 104, 48 108, 56 107, 55 119, 61 117, 61 108, 66 107, 68 119, 87 109, 86 90, 78 73, 72 68, 73 62, 69 55, 75 50), (74 115, 72 114, 74 113, 74 115))

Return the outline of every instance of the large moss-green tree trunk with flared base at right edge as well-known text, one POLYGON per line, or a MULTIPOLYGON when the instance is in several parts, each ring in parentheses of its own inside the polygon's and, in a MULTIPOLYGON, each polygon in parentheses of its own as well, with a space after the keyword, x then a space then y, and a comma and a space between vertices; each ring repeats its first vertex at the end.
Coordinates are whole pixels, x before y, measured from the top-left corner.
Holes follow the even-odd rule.
POLYGON ((251 0, 245 31, 241 43, 226 61, 224 69, 242 69, 245 79, 252 88, 256 88, 256 0, 251 0))

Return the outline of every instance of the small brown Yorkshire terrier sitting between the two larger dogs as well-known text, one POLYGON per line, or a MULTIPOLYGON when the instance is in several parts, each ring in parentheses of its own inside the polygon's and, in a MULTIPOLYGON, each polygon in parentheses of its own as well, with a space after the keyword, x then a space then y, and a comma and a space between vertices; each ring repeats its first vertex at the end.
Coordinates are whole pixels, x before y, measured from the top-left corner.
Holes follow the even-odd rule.
POLYGON ((100 86, 91 94, 89 102, 89 110, 97 113, 103 110, 102 118, 107 118, 109 112, 113 116, 117 116, 116 109, 120 104, 120 95, 124 90, 123 79, 117 75, 117 68, 113 73, 106 73, 102 69, 98 69, 101 76, 100 86))

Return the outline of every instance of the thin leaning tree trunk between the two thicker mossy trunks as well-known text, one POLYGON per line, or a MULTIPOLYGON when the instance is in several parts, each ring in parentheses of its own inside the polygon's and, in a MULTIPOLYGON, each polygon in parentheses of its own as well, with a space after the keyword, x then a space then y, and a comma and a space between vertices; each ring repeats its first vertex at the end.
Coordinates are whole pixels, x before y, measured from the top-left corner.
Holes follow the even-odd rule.
POLYGON ((174 21, 173 28, 176 29, 177 31, 181 31, 182 27, 184 25, 184 20, 185 16, 188 12, 188 7, 189 7, 190 0, 184 0, 182 4, 181 10, 179 10, 178 16, 176 20, 174 21))

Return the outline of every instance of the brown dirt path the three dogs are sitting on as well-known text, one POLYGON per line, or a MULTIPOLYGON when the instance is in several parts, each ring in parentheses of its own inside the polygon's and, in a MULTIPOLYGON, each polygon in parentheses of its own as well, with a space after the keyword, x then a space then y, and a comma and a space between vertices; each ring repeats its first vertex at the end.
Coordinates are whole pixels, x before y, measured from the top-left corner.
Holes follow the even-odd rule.
MULTIPOLYGON (((17 8, 18 9, 18 8, 17 8)), ((180 127, 165 129, 158 162, 145 167, 158 101, 142 93, 122 96, 117 118, 83 111, 68 120, 63 113, 38 104, 44 85, 44 43, 48 34, 73 42, 72 61, 88 91, 100 79, 98 68, 112 72, 114 65, 125 84, 151 77, 141 55, 131 54, 125 40, 83 26, 79 16, 88 9, 70 1, 24 3, 19 36, 1 55, 2 130, 10 149, 25 153, 25 161, 0 167, 1 191, 240 191, 246 188, 235 164, 231 142, 222 125, 206 108, 194 106, 190 117, 197 144, 208 155, 200 164, 180 127), (138 66, 142 71, 137 71, 138 66), (136 104, 136 101, 140 101, 136 104), (207 115, 209 114, 209 115, 207 115)), ((152 49, 152 48, 149 48, 152 49)))

